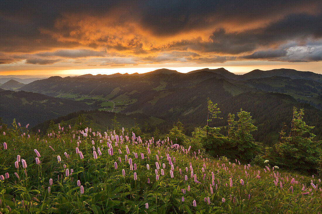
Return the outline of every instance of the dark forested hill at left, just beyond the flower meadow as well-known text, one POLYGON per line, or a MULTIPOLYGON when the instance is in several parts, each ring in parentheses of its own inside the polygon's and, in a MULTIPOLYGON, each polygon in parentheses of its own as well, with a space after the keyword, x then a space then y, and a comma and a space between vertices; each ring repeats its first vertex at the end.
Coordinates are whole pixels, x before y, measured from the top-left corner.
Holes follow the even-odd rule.
POLYGON ((73 111, 90 110, 91 107, 78 101, 50 97, 32 92, 0 92, 0 117, 6 124, 21 122, 31 126, 57 118, 73 111))

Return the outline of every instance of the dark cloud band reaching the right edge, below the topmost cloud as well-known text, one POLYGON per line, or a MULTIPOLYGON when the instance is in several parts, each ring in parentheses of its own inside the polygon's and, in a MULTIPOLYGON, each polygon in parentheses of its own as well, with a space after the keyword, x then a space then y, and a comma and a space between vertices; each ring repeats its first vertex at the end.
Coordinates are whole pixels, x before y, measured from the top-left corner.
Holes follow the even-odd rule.
MULTIPOLYGON (((288 40, 301 42, 321 37, 322 13, 319 15, 292 14, 265 27, 242 32, 226 32, 225 29, 220 28, 212 33, 209 41, 182 40, 169 44, 168 48, 240 54, 255 50, 259 46, 272 46, 288 40)), ((258 53, 254 53, 256 54, 258 53)))

